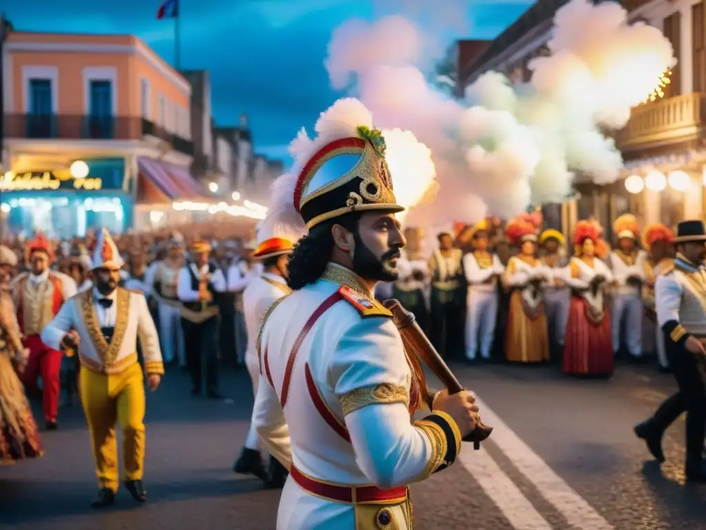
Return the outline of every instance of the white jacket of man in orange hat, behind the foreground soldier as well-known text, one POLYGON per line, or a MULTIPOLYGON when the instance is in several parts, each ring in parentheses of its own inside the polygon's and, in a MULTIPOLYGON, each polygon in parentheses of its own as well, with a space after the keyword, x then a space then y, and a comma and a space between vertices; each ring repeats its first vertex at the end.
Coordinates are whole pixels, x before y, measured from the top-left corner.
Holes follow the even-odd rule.
POLYGON ((282 296, 292 293, 282 276, 263 272, 253 278, 243 292, 245 328, 248 336, 246 355, 257 355, 256 342, 265 312, 282 296))

